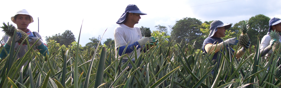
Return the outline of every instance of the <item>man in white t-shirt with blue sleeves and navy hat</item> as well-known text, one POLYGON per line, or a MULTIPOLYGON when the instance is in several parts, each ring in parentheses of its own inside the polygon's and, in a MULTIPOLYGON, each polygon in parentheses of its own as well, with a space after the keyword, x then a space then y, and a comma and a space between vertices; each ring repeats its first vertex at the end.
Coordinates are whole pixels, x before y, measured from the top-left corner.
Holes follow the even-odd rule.
MULTIPOLYGON (((146 15, 146 13, 140 11, 136 5, 130 4, 126 7, 125 12, 116 22, 117 24, 120 24, 114 29, 116 56, 119 55, 120 57, 123 51, 125 51, 125 54, 128 54, 128 56, 131 56, 132 52, 134 51, 134 47, 136 47, 137 57, 139 57, 141 53, 140 50, 142 50, 143 45, 145 45, 147 42, 149 42, 149 44, 156 42, 155 38, 153 37, 142 38, 142 32, 140 31, 139 27, 134 26, 135 24, 139 23, 139 19, 141 18, 140 15, 146 15)), ((134 62, 134 58, 131 59, 134 62)), ((127 61, 128 58, 123 57, 122 62, 127 61)), ((131 63, 129 63, 128 66, 132 68, 131 63)))

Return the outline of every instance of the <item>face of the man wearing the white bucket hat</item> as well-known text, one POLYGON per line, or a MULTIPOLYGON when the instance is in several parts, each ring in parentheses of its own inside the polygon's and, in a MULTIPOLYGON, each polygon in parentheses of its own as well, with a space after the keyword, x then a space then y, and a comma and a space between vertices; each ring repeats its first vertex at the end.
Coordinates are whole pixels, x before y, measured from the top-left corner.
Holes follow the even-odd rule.
POLYGON ((17 24, 18 29, 25 30, 30 23, 30 16, 25 14, 18 14, 17 18, 14 19, 14 21, 17 24))

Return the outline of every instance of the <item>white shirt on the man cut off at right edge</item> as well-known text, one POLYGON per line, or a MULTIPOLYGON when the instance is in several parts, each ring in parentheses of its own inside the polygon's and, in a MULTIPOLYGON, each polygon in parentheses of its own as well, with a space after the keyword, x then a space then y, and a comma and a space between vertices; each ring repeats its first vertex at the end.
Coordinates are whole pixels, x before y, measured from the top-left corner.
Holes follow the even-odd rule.
MULTIPOLYGON (((279 35, 279 34, 278 34, 278 35, 279 35)), ((280 35, 279 35, 279 38, 281 39, 281 36, 280 36, 280 35)), ((280 39, 279 39, 279 41, 281 42, 280 39)), ((262 52, 262 50, 263 50, 264 48, 266 48, 266 47, 269 45, 270 40, 271 40, 271 37, 270 37, 269 35, 264 35, 264 36, 263 36, 262 41, 261 41, 261 44, 259 45, 259 50, 261 50, 260 52, 262 52)), ((267 58, 268 56, 270 56, 272 52, 273 52, 272 49, 269 50, 269 52, 265 55, 265 56, 266 56, 265 58, 267 58)))

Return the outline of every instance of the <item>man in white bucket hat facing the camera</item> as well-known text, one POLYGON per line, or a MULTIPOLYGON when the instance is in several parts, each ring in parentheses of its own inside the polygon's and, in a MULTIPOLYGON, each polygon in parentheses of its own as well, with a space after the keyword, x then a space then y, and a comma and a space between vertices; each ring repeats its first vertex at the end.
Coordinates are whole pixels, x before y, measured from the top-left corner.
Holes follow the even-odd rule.
MULTIPOLYGON (((33 47, 34 50, 38 49, 39 52, 42 55, 46 55, 49 54, 48 52, 48 48, 47 48, 47 44, 43 42, 41 35, 34 31, 30 31, 27 27, 29 26, 30 23, 34 22, 32 16, 27 12, 27 10, 25 9, 21 9, 19 11, 16 12, 16 14, 14 16, 11 17, 11 21, 14 22, 15 24, 17 24, 17 29, 24 31, 25 33, 27 33, 27 35, 29 36, 29 44, 33 45, 35 43, 35 41, 38 40, 38 42, 36 43, 35 47, 33 47), (40 39, 39 39, 40 38, 40 39)), ((20 46, 19 43, 17 43, 17 41, 20 39, 21 34, 17 34, 16 35, 16 44, 14 46, 14 49, 17 50, 20 46)), ((9 37, 8 35, 4 35, 3 36, 3 40, 1 41, 1 43, 4 45, 4 48, 7 50, 7 52, 9 53, 10 51, 10 47, 11 47, 11 40, 12 37, 9 37)), ((20 48, 19 48, 19 53, 17 54, 17 57, 23 57, 24 54, 28 51, 28 46, 23 44, 20 48)), ((3 50, 2 50, 3 51, 3 50)), ((0 58, 4 58, 6 57, 6 53, 5 52, 1 52, 0 53, 0 58)))

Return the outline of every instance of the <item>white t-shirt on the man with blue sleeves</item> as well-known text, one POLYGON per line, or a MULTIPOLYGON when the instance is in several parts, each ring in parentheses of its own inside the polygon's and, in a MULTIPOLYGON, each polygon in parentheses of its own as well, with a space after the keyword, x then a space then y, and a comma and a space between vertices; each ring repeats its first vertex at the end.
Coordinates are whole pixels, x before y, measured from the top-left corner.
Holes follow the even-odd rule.
MULTIPOLYGON (((119 26, 117 26, 114 29, 114 41, 115 41, 115 53, 116 56, 119 54, 117 53, 117 48, 121 47, 121 46, 126 46, 127 43, 128 45, 133 44, 134 42, 140 40, 142 38, 142 32, 140 31, 139 27, 134 26, 134 28, 130 28, 124 24, 120 24, 119 26)), ((129 48, 129 47, 128 47, 129 48)), ((139 48, 137 50, 137 57, 139 57, 140 55, 140 50, 141 48, 139 48)), ((123 51, 119 51, 119 52, 123 52, 123 51)), ((130 57, 132 54, 129 53, 128 56, 130 57)), ((126 56, 123 57, 123 59, 128 59, 126 56)), ((134 60, 135 58, 132 58, 132 60, 134 60)))

